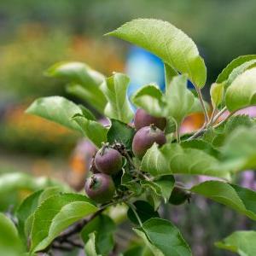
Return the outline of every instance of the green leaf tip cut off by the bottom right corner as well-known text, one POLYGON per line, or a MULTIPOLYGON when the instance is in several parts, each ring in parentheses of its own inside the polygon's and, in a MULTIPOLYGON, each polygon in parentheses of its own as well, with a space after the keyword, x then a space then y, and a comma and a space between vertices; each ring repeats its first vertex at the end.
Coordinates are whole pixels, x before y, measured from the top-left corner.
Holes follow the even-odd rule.
POLYGON ((236 231, 223 241, 216 242, 215 245, 241 256, 254 256, 256 255, 256 232, 236 231))

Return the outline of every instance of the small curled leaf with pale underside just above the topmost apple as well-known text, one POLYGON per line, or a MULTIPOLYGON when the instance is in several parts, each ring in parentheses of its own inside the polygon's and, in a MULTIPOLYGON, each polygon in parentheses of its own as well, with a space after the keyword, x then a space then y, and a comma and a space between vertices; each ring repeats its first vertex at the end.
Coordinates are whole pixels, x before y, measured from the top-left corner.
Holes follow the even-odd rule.
POLYGON ((162 101, 163 94, 154 84, 148 84, 137 90, 131 97, 131 101, 138 107, 143 108, 153 116, 163 116, 165 104, 162 101))

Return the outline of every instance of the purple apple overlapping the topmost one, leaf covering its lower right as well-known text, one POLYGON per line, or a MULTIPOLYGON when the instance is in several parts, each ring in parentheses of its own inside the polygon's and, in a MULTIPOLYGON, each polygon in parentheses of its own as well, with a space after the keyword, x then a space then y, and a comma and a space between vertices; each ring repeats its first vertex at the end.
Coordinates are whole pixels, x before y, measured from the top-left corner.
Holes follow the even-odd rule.
POLYGON ((154 143, 160 146, 166 143, 166 136, 163 131, 157 128, 155 125, 150 125, 141 128, 132 141, 132 151, 138 158, 143 158, 148 148, 154 143))

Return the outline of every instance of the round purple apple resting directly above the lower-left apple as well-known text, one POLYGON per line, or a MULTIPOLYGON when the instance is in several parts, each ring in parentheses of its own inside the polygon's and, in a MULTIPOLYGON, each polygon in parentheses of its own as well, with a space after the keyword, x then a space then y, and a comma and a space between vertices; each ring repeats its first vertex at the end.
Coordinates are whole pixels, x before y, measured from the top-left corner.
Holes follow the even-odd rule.
POLYGON ((119 151, 103 146, 95 156, 96 169, 102 173, 113 175, 123 166, 122 155, 119 151))

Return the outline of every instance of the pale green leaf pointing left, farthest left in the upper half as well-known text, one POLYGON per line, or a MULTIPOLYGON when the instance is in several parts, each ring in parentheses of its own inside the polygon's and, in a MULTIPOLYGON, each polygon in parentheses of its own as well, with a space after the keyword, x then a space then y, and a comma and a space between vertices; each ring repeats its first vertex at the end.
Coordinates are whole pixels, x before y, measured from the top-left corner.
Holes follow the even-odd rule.
POLYGON ((32 105, 26 109, 26 113, 32 113, 69 129, 81 131, 80 126, 72 118, 76 113, 82 113, 82 110, 75 103, 61 96, 39 98, 32 102, 32 105))

